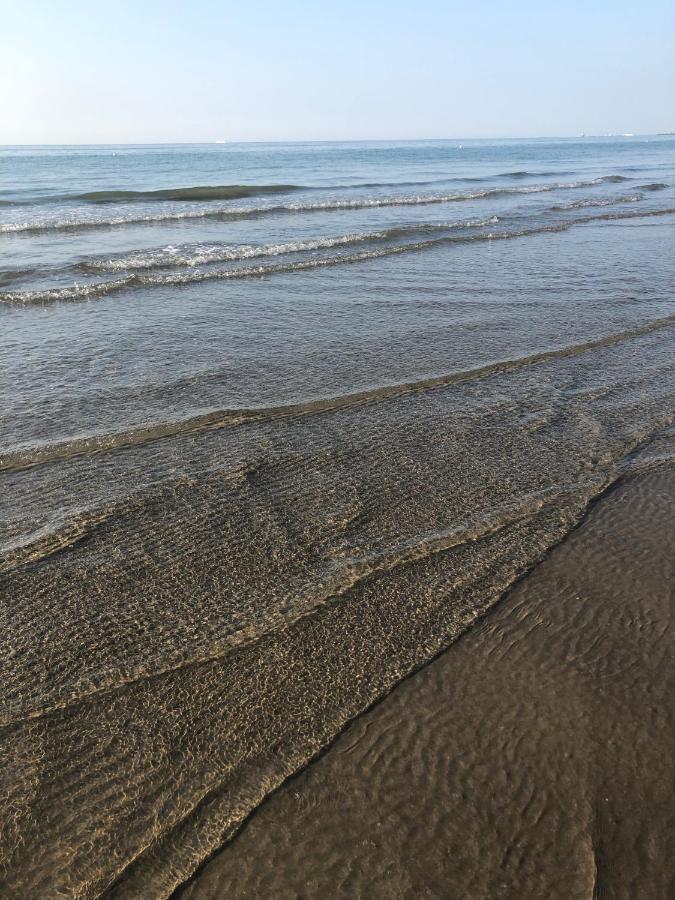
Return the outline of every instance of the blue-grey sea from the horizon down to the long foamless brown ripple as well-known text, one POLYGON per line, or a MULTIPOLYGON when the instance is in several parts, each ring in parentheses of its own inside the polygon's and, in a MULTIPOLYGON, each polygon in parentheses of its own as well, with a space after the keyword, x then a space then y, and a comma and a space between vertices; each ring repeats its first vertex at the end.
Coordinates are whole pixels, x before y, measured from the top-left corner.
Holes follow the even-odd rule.
POLYGON ((674 184, 673 138, 3 149, 2 452, 643 324, 674 184))

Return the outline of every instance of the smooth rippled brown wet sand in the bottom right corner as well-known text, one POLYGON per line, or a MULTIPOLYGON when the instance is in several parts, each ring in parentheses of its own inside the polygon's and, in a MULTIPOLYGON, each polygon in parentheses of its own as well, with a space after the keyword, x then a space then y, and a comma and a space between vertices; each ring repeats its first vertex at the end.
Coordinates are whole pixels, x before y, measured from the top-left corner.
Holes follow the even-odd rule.
POLYGON ((674 498, 610 490, 180 896, 673 896, 674 498))

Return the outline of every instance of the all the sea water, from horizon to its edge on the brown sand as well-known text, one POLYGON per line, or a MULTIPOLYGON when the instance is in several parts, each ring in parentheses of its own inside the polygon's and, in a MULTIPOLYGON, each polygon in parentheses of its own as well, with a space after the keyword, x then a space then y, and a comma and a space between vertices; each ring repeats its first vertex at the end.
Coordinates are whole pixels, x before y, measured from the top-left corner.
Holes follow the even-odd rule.
POLYGON ((672 459, 674 333, 672 137, 0 149, 5 889, 168 896, 672 459))

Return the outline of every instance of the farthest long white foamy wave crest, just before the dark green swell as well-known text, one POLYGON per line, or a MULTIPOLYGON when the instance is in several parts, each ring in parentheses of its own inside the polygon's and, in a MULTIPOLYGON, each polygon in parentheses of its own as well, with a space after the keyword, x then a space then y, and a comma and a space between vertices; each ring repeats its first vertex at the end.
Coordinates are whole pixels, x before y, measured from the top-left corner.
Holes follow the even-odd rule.
POLYGON ((402 197, 364 197, 344 198, 338 200, 325 200, 316 203, 287 203, 270 204, 266 206, 251 207, 220 207, 217 209, 197 209, 181 212, 166 212, 157 215, 144 216, 115 216, 107 219, 91 219, 74 217, 69 219, 57 219, 53 221, 15 222, 0 225, 0 234, 15 233, 41 233, 45 231, 79 230, 86 228, 113 228, 128 225, 146 225, 153 223, 169 223, 187 221, 190 219, 222 219, 233 220, 252 218, 275 214, 336 212, 339 210, 377 209, 395 206, 429 206, 445 203, 461 203, 471 200, 483 200, 485 198, 506 197, 512 194, 535 194, 550 191, 578 190, 584 187, 593 187, 605 181, 621 179, 620 175, 607 175, 600 178, 585 181, 549 182, 546 184, 531 184, 514 187, 483 188, 468 192, 451 194, 410 195, 402 197))

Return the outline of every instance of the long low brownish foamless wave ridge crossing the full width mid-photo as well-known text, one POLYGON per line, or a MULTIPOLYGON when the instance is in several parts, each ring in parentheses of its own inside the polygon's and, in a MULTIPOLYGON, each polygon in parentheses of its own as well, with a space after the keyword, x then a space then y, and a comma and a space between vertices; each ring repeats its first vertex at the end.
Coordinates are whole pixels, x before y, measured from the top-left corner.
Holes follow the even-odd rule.
POLYGON ((58 444, 29 447, 23 450, 9 452, 3 457, 0 457, 0 471, 29 468, 44 463, 55 462, 57 460, 71 459, 77 456, 91 456, 98 453, 119 450, 124 447, 147 444, 152 441, 173 437, 179 434, 191 434, 199 431, 244 425, 249 422, 315 415, 340 409, 352 409, 358 406, 371 405, 373 403, 380 403, 385 400, 392 400, 409 394, 416 394, 434 390, 436 388, 450 387, 451 385, 461 384, 467 381, 489 378, 492 375, 517 371, 519 369, 540 365, 541 363, 550 362, 556 359, 579 356, 582 353, 600 350, 604 347, 611 347, 614 344, 619 344, 632 338, 650 334, 653 331, 670 327, 673 324, 675 324, 675 314, 663 316, 659 319, 653 319, 651 322, 647 322, 644 325, 638 325, 635 328, 605 335, 596 340, 567 345, 555 350, 545 350, 529 356, 500 360, 474 369, 450 372, 432 378, 424 378, 419 381, 382 385, 371 390, 360 391, 354 394, 345 394, 317 400, 306 400, 304 402, 282 406, 218 409, 203 415, 193 416, 190 419, 160 423, 116 434, 92 435, 87 438, 63 441, 58 444))

